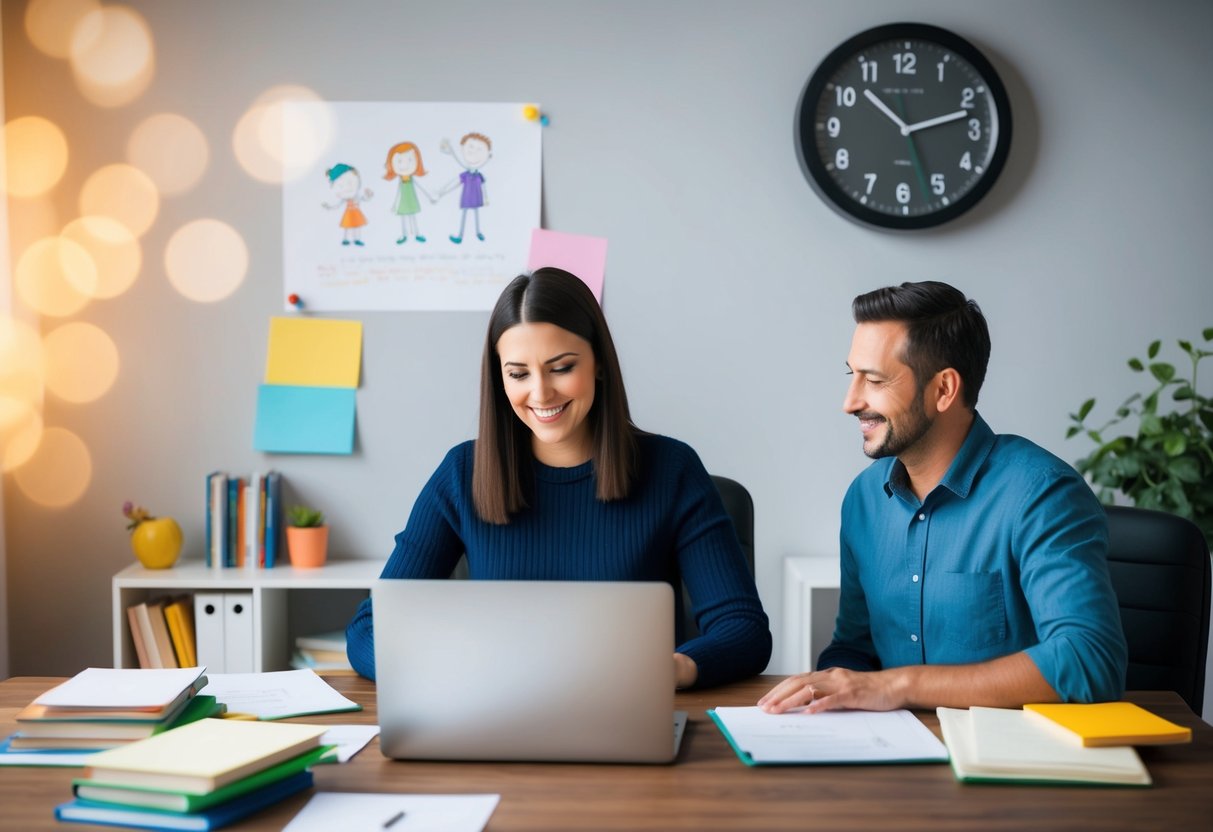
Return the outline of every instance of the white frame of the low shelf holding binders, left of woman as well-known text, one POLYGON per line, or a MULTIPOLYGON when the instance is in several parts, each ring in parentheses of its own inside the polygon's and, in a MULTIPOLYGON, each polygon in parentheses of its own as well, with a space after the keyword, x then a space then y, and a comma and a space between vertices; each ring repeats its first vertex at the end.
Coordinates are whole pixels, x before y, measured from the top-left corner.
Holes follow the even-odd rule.
POLYGON ((319 569, 211 569, 200 560, 183 560, 171 569, 132 564, 113 577, 114 667, 138 667, 126 608, 166 595, 203 592, 249 592, 252 612, 254 672, 290 666, 287 604, 292 589, 370 589, 383 563, 329 560, 319 569))

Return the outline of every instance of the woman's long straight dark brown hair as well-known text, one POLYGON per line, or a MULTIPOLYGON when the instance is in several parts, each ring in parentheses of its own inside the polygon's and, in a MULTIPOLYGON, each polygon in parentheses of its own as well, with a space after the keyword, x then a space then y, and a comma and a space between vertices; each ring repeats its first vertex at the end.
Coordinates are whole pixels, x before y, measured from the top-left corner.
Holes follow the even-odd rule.
POLYGON ((497 341, 518 324, 554 324, 590 342, 598 378, 586 415, 593 438, 598 498, 622 500, 636 474, 637 428, 627 409, 623 374, 598 301, 579 278, 558 268, 519 274, 497 298, 480 363, 480 434, 472 467, 472 498, 485 523, 506 524, 526 507, 531 432, 514 415, 501 378, 497 341))

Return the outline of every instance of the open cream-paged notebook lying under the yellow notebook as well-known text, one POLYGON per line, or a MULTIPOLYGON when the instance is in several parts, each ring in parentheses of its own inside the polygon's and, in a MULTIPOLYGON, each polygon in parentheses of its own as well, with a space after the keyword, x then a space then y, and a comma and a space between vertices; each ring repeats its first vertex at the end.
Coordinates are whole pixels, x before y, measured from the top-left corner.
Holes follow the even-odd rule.
POLYGON ((1150 773, 1129 746, 1084 748, 1019 708, 936 708, 962 782, 1149 786, 1150 773))

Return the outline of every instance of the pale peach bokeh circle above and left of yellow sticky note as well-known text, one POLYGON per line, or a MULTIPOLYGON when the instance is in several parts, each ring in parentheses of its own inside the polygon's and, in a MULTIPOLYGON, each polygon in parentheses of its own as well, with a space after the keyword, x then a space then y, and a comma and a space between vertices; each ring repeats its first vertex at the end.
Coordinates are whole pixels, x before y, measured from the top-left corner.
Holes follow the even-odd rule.
POLYGON ((244 283, 249 247, 226 222, 195 220, 173 232, 164 264, 173 289, 190 301, 213 303, 244 283))

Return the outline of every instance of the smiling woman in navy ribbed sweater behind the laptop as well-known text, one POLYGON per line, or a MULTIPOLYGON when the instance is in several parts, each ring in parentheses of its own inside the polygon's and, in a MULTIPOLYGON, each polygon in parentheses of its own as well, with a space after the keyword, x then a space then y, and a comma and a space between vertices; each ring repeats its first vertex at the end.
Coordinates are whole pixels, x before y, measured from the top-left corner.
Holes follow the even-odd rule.
MULTIPOLYGON (((472 579, 682 580, 702 636, 674 653, 678 686, 759 673, 770 631, 736 532, 695 451, 632 424, 590 289, 556 268, 516 278, 480 372, 479 439, 431 477, 382 576, 446 577, 466 552, 472 579)), ((369 599, 347 650, 374 678, 369 599)))

